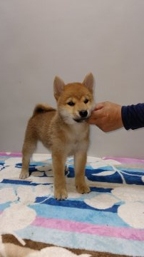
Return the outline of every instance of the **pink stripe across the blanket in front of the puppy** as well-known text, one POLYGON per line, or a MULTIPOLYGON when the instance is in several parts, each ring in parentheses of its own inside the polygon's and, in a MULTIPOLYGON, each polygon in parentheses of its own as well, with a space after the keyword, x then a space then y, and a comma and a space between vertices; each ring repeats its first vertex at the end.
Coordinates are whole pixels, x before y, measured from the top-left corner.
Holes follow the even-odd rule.
POLYGON ((31 225, 61 229, 69 232, 75 231, 77 233, 90 233, 98 236, 111 236, 116 238, 125 238, 138 241, 144 240, 144 230, 137 229, 135 231, 135 229, 133 228, 117 228, 110 226, 81 223, 76 221, 66 221, 61 219, 41 217, 37 217, 31 225))

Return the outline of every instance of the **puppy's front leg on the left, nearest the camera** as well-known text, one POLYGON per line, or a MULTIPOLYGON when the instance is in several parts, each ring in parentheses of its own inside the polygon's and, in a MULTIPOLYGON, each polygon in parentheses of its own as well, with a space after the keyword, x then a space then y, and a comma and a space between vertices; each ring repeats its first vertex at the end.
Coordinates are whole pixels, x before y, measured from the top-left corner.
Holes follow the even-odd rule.
POLYGON ((57 200, 64 200, 68 197, 65 179, 65 161, 61 152, 53 152, 53 172, 54 172, 54 196, 57 200))

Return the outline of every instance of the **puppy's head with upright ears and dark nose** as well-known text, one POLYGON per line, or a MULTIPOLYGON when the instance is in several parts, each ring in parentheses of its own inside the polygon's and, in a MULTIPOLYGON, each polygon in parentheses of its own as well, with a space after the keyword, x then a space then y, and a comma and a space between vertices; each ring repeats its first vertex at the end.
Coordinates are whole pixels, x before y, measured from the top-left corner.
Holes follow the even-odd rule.
POLYGON ((63 80, 54 79, 54 96, 58 112, 67 124, 81 123, 91 116, 93 109, 93 74, 88 74, 83 83, 64 84, 63 80))

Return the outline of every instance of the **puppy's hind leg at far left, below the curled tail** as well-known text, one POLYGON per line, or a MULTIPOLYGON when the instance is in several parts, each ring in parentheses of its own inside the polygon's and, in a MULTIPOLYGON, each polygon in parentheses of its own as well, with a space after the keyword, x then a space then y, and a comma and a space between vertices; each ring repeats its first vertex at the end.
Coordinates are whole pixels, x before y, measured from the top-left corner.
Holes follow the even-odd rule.
POLYGON ((26 136, 24 139, 24 146, 22 149, 22 169, 21 169, 21 174, 19 178, 25 179, 29 177, 29 163, 30 163, 30 158, 32 154, 34 153, 34 150, 36 149, 36 143, 37 139, 31 135, 31 133, 27 130, 26 131, 26 136))

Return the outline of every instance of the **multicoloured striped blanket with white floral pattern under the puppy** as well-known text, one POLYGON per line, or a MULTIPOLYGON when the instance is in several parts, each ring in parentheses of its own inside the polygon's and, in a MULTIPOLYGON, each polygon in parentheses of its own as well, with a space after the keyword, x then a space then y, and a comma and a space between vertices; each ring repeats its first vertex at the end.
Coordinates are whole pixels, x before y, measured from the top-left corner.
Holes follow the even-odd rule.
POLYGON ((144 256, 144 160, 88 157, 91 193, 53 198, 51 156, 35 154, 20 180, 21 153, 0 153, 0 256, 144 256))

